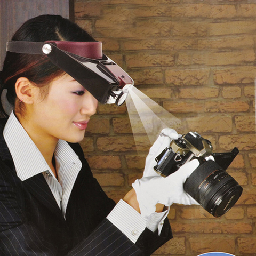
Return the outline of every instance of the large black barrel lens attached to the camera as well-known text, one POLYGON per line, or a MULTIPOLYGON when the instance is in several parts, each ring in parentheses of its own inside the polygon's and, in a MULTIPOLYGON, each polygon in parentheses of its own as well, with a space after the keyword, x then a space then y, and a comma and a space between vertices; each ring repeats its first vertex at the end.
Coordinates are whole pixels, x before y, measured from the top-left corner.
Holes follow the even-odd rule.
POLYGON ((243 188, 212 160, 199 165, 184 185, 185 191, 214 217, 233 207, 243 188))

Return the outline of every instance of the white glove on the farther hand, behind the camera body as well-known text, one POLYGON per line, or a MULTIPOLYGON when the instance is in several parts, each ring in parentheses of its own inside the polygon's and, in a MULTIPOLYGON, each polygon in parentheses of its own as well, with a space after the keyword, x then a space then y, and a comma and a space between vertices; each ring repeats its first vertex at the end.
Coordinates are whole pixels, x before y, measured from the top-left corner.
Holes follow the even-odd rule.
POLYGON ((154 142, 153 146, 149 149, 149 154, 146 157, 143 177, 159 175, 154 171, 154 166, 156 166, 157 164, 155 158, 158 155, 160 155, 165 148, 170 147, 170 143, 172 140, 177 140, 178 138, 179 138, 179 134, 173 129, 165 128, 161 131, 157 140, 154 142))

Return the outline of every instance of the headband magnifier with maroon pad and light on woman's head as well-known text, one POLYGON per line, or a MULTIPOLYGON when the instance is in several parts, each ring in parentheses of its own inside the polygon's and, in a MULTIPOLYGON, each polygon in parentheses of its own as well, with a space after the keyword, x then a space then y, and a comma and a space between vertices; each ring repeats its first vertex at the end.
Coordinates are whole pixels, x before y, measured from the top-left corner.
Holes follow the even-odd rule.
POLYGON ((10 41, 6 50, 46 55, 103 104, 121 106, 134 85, 133 79, 102 53, 101 42, 10 41))

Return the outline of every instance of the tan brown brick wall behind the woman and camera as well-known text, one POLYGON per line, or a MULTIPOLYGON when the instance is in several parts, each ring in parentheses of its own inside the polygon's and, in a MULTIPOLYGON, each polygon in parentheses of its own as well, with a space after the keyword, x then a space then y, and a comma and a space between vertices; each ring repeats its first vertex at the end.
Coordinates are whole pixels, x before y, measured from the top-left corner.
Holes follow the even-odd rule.
MULTIPOLYGON (((216 152, 241 153, 228 172, 243 186, 219 219, 202 207, 173 205, 174 239, 154 255, 222 251, 256 255, 256 2, 250 0, 76 0, 75 20, 135 86, 197 131, 216 152)), ((136 151, 126 106, 100 105, 82 142, 116 201, 141 176, 148 143, 136 151)))

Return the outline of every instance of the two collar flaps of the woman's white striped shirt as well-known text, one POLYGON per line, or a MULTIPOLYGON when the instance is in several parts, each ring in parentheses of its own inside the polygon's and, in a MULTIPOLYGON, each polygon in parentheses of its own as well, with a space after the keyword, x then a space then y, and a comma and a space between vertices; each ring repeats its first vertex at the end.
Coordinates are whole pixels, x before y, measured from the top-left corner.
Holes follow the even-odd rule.
MULTIPOLYGON (((43 155, 22 127, 13 111, 4 127, 3 136, 10 150, 18 177, 24 181, 39 173, 50 171, 43 155)), ((77 164, 81 161, 66 141, 59 140, 55 156, 66 164, 77 164)))

